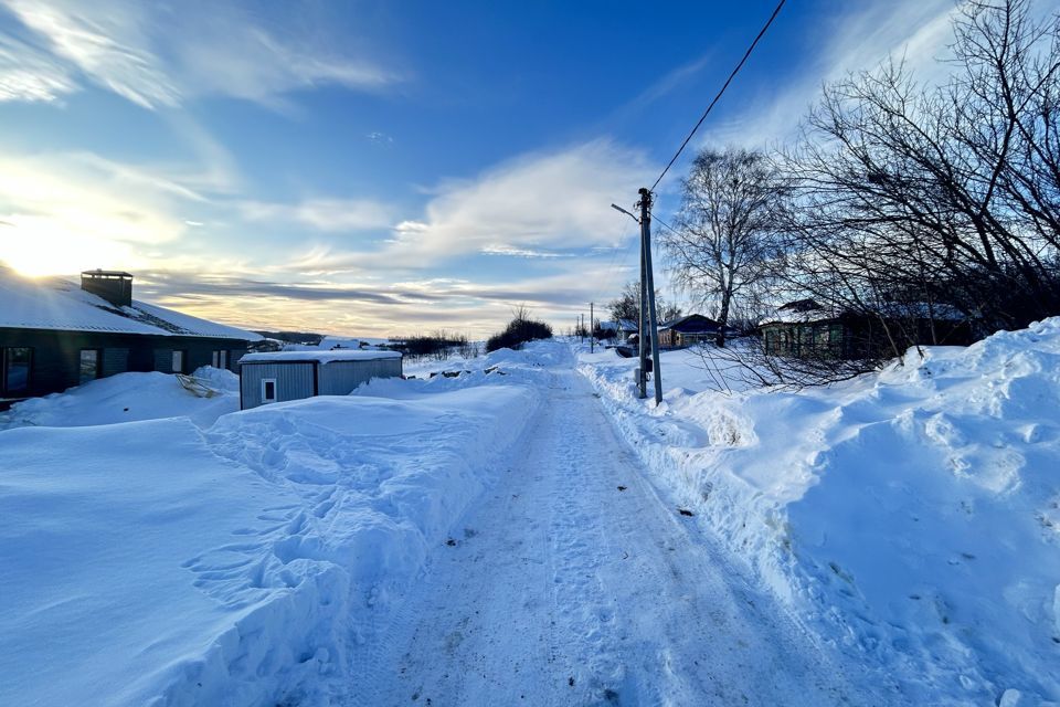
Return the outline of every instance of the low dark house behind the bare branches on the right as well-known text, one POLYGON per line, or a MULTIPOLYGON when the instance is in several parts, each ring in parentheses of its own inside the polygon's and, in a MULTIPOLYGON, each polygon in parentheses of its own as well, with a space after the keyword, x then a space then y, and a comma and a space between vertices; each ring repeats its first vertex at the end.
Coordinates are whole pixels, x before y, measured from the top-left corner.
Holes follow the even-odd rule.
POLYGON ((778 307, 759 328, 766 354, 795 358, 887 358, 895 348, 974 340, 971 325, 952 307, 936 305, 931 316, 923 305, 890 309, 881 315, 797 299, 778 307))

